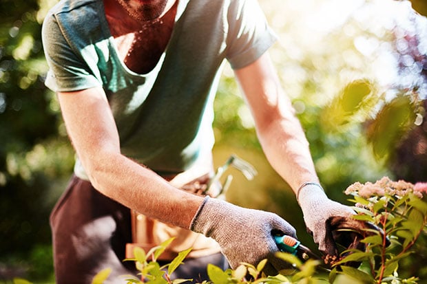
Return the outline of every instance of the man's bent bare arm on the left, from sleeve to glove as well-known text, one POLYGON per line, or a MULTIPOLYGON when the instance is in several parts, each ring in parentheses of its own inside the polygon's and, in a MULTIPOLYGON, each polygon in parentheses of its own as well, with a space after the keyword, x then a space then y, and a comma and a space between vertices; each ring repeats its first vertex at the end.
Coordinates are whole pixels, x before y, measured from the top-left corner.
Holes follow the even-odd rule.
POLYGON ((121 154, 118 131, 102 88, 58 94, 67 132, 94 187, 148 217, 189 228, 202 203, 121 154))

